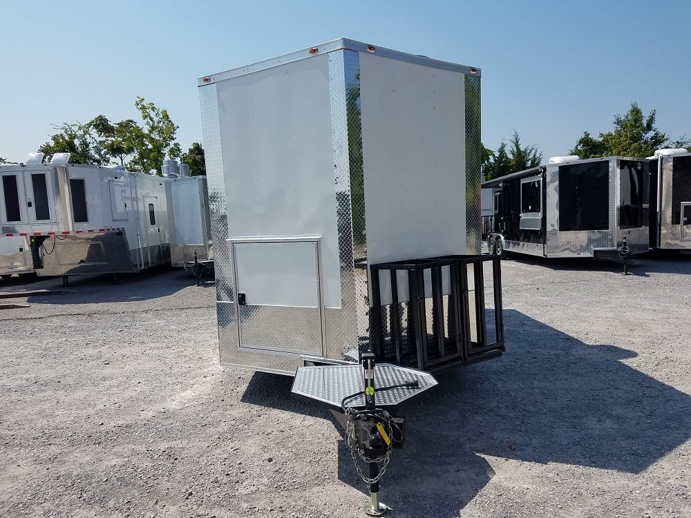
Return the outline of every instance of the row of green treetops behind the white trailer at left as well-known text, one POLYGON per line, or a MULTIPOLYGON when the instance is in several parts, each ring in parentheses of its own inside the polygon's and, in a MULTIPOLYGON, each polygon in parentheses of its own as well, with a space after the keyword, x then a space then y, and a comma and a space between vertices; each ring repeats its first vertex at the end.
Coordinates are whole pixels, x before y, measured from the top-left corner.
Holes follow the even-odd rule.
POLYGON ((50 135, 50 142, 39 147, 39 151, 46 155, 46 160, 55 153, 68 152, 73 164, 115 162, 130 171, 160 175, 163 160, 166 157, 178 159, 182 153, 176 142, 178 126, 167 110, 146 102, 143 97, 136 98, 135 108, 144 122, 143 127, 134 119, 111 122, 105 115, 97 115, 86 124, 66 122, 55 126, 59 131, 50 135), (128 162, 127 157, 130 157, 128 162))

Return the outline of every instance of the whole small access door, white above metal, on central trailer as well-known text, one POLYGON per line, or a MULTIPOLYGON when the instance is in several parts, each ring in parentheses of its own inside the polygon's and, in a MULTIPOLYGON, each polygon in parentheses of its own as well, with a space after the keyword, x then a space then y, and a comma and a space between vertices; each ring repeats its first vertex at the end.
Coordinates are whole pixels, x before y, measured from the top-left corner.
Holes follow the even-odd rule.
POLYGON ((230 241, 240 347, 323 356, 319 238, 230 241))

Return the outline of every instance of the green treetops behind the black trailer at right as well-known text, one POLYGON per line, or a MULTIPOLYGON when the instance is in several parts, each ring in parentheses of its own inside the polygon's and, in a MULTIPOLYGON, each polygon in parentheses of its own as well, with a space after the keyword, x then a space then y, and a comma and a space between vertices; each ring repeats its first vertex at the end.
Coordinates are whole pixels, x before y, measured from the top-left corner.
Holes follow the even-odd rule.
POLYGON ((581 158, 609 156, 649 157, 657 149, 666 146, 685 147, 690 144, 685 137, 672 141, 668 135, 655 127, 656 111, 652 110, 646 117, 636 102, 631 103, 629 111, 623 117, 614 116, 614 131, 600 133, 599 138, 584 131, 583 135, 571 149, 571 154, 581 158))

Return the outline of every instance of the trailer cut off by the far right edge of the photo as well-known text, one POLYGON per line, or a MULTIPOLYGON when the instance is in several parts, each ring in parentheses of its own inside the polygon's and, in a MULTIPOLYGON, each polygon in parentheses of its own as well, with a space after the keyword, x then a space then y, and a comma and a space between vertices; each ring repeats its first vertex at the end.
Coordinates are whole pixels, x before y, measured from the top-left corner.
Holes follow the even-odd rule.
POLYGON ((691 249, 691 153, 660 149, 650 162, 650 248, 691 249))

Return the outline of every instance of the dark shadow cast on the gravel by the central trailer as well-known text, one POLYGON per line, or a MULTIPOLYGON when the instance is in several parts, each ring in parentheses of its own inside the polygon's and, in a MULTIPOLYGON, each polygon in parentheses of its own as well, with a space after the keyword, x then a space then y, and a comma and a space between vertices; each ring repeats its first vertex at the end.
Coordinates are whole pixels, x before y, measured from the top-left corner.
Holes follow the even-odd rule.
MULTIPOLYGON (((494 475, 484 455, 636 474, 691 438, 691 396, 621 362, 634 352, 587 345, 515 310, 504 322, 504 356, 440 372, 437 390, 399 409, 406 446, 381 480, 392 516, 457 516, 494 475)), ((292 399, 291 385, 257 372, 242 401, 332 419, 292 399)), ((336 427, 339 479, 367 495, 336 427)))

